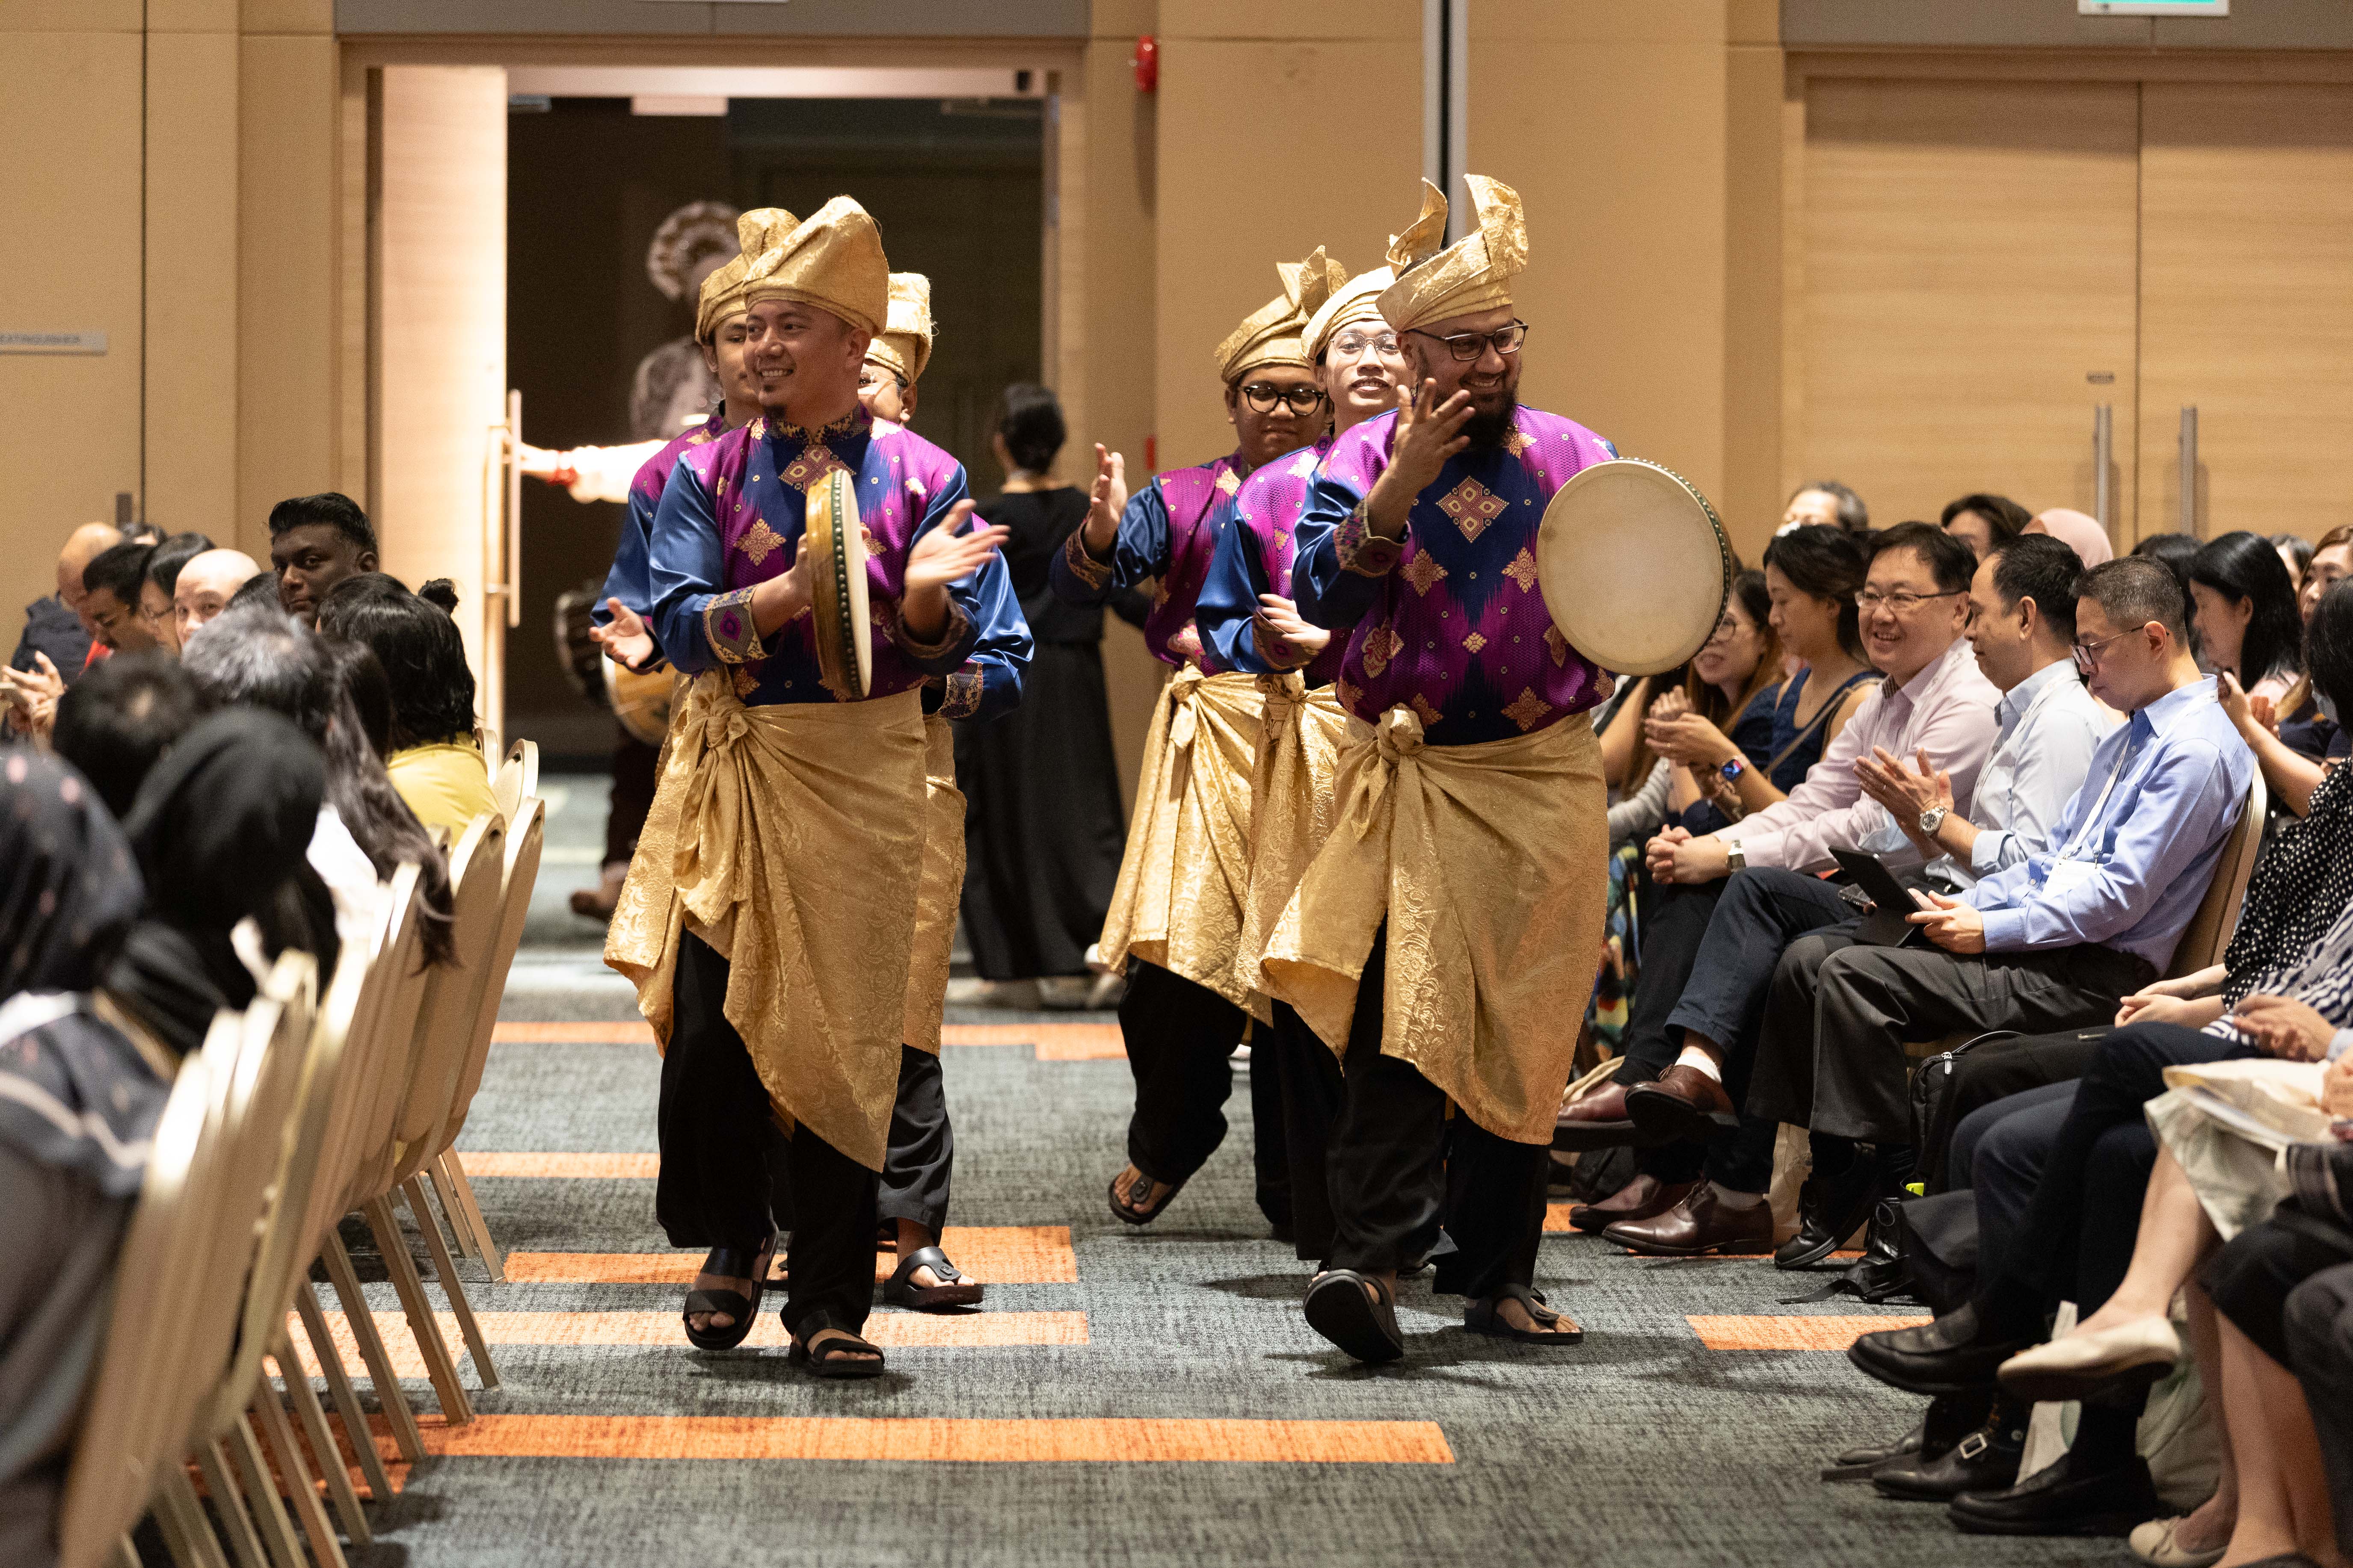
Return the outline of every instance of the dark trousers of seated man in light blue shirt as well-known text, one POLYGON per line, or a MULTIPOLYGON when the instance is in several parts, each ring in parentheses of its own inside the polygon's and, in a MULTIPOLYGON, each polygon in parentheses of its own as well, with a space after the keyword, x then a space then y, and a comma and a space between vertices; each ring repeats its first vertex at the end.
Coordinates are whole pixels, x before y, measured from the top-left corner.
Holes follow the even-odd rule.
POLYGON ((2049 1034, 2106 1023, 2155 978, 2111 947, 1953 954, 1845 931, 1791 943, 1774 969, 1748 1110, 1833 1138, 1911 1145, 1904 1046, 1946 1034, 2049 1034))

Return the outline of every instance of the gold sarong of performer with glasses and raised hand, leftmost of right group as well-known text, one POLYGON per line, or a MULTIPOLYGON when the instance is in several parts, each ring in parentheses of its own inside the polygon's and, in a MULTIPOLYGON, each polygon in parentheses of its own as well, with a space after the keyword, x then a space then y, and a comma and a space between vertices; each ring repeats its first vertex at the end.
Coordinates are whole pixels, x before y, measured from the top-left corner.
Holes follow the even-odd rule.
POLYGON ((1252 987, 1233 973, 1233 954, 1249 893, 1259 724, 1254 675, 1202 675, 1186 665, 1160 689, 1096 952, 1106 969, 1118 971, 1134 954, 1249 1006, 1252 987))

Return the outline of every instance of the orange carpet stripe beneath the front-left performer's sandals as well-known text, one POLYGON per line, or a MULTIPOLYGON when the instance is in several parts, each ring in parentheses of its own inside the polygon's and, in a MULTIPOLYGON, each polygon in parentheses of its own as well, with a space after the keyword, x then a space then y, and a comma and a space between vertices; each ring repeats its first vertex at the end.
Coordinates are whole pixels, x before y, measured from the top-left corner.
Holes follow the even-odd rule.
MULTIPOLYGON (((456 1316, 449 1312, 433 1314, 440 1328, 442 1342, 449 1347, 452 1356, 466 1354, 466 1342, 459 1338, 456 1316)), ((685 1331, 678 1326, 675 1312, 478 1312, 475 1321, 482 1326, 482 1338, 496 1345, 595 1345, 595 1347, 628 1347, 628 1345, 673 1345, 685 1349, 685 1331)), ((301 1328, 292 1326, 299 1319, 289 1316, 289 1333, 294 1338, 294 1354, 301 1356, 304 1371, 313 1378, 318 1375, 318 1359, 311 1354, 311 1338, 301 1328)), ((327 1328, 334 1333, 336 1352, 344 1356, 344 1368, 353 1378, 365 1378, 367 1366, 360 1361, 360 1347, 351 1335, 351 1324, 341 1312, 327 1314, 327 1328)), ((416 1349, 416 1338, 409 1333, 409 1319, 400 1312, 379 1312, 376 1333, 384 1338, 384 1352, 393 1359, 395 1378, 424 1378, 426 1361, 416 1349)), ((1087 1342, 1087 1314, 1085 1312, 974 1312, 962 1316, 939 1316, 929 1312, 875 1312, 866 1319, 866 1338, 882 1349, 988 1349, 1007 1345, 1085 1345, 1087 1342)), ((751 1338, 744 1340, 753 1349, 784 1349, 791 1338, 784 1333, 784 1324, 776 1321, 774 1312, 762 1312, 760 1321, 753 1324, 751 1338)))

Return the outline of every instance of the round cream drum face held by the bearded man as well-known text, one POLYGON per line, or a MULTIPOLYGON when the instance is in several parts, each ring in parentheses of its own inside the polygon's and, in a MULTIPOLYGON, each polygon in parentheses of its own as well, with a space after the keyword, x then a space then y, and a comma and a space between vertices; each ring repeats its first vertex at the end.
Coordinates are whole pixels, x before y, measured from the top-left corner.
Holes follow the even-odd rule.
POLYGON ((1581 468, 1544 508, 1537 583, 1572 649, 1617 675, 1659 675, 1715 632, 1732 543, 1689 480, 1614 458, 1581 468))

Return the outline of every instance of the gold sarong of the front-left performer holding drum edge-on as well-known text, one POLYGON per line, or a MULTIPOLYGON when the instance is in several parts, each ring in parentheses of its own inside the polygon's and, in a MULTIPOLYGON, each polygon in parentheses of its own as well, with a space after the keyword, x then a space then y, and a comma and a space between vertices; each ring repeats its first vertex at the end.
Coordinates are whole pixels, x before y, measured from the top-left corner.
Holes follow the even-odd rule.
POLYGON ((605 961, 671 1041, 678 938, 729 959, 727 1023, 784 1126, 882 1168, 925 839, 922 698, 746 708, 685 689, 605 961))

